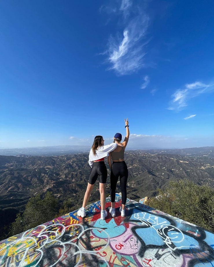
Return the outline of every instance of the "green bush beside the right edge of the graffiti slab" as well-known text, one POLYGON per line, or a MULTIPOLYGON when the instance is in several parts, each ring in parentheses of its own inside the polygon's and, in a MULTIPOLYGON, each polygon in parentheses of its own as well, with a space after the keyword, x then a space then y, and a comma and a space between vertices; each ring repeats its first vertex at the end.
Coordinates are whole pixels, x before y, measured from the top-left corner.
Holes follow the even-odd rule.
POLYGON ((214 231, 214 190, 188 180, 170 181, 147 205, 214 231))

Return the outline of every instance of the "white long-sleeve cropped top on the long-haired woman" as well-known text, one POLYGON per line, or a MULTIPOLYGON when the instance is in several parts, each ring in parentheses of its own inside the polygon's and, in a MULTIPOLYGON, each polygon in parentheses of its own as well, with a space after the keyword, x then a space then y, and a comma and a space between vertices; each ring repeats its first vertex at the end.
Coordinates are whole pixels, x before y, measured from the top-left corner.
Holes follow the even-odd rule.
POLYGON ((93 154, 93 151, 91 148, 90 153, 89 153, 89 159, 88 159, 88 163, 90 167, 92 168, 93 162, 95 160, 99 160, 99 159, 102 159, 103 157, 107 157, 109 153, 113 151, 116 147, 117 147, 116 143, 111 143, 109 145, 99 147, 97 150, 95 150, 96 151, 95 155, 93 154))

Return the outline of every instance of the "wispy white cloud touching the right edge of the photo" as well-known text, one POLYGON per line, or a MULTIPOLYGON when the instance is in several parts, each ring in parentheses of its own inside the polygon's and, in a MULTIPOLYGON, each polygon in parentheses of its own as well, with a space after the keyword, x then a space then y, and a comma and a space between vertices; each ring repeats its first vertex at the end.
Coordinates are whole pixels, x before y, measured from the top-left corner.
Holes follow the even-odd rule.
POLYGON ((210 92, 214 89, 214 84, 204 84, 200 81, 195 81, 191 84, 185 84, 184 89, 178 89, 172 94, 172 100, 169 103, 169 110, 183 110, 188 101, 197 97, 200 94, 210 92))

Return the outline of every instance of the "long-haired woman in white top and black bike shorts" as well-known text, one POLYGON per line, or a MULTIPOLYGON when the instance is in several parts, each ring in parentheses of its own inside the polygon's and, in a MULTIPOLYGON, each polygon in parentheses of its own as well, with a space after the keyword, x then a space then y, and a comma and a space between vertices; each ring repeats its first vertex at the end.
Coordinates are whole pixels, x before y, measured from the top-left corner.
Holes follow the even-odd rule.
POLYGON ((100 192, 100 203, 101 203, 101 220, 105 220, 107 212, 105 210, 106 203, 106 180, 107 180, 107 168, 104 162, 104 157, 107 157, 111 151, 117 147, 116 143, 111 143, 104 146, 104 139, 102 136, 95 136, 93 145, 89 153, 88 163, 91 167, 91 173, 88 178, 88 186, 84 195, 82 208, 77 212, 78 216, 85 217, 85 207, 88 203, 91 191, 94 184, 99 179, 99 192, 100 192))

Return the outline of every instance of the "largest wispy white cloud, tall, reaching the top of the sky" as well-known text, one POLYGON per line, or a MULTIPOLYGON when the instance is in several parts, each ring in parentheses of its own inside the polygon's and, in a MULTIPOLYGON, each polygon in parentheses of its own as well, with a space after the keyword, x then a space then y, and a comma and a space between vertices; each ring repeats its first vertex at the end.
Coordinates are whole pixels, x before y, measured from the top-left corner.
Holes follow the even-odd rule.
POLYGON ((107 60, 111 66, 108 69, 127 75, 144 66, 146 52, 142 40, 147 33, 149 16, 129 0, 122 1, 119 11, 118 15, 123 16, 123 34, 109 38, 107 60))

